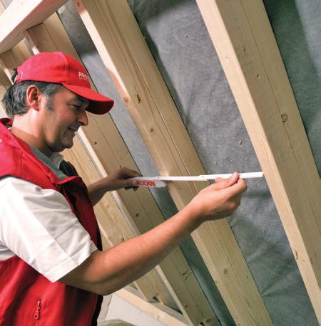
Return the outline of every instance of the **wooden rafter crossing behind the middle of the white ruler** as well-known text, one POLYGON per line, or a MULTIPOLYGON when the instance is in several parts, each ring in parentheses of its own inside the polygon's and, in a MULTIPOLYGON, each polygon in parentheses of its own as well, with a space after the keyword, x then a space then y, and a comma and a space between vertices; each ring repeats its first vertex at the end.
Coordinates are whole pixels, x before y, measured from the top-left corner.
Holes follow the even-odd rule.
MULTIPOLYGON (((205 174, 127 1, 74 2, 161 174, 205 174)), ((204 185, 168 188, 182 209, 204 185)), ((235 322, 271 325, 228 221, 203 225, 193 239, 235 322)))

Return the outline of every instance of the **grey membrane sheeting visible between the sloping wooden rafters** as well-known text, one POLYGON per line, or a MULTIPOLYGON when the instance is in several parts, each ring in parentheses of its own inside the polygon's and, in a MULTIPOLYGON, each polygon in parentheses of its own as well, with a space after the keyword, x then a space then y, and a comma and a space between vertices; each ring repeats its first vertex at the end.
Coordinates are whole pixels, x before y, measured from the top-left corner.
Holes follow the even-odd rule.
MULTIPOLYGON (((260 171, 228 81, 194 0, 128 1, 188 134, 213 173, 260 171)), ((265 0, 300 114, 321 171, 321 2, 265 0)), ((98 91, 113 98, 111 117, 143 175, 158 175, 141 136, 71 2, 58 11, 98 91)), ((166 189, 151 190, 165 219, 176 213, 166 189)), ((248 181, 228 219, 273 325, 318 325, 264 179, 248 181)), ((191 238, 180 246, 222 325, 235 325, 191 238)))

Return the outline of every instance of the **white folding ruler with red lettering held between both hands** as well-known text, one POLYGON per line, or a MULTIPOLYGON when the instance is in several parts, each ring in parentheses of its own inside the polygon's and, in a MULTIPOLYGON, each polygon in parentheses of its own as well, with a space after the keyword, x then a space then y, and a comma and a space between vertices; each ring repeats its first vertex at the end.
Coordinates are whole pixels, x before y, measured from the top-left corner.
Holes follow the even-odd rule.
MULTIPOLYGON (((161 188, 166 186, 166 182, 170 181, 205 181, 205 180, 214 180, 216 178, 229 178, 233 174, 204 174, 194 177, 136 177, 131 178, 137 180, 138 186, 149 186, 154 188, 161 188)), ((263 172, 247 172, 240 173, 241 179, 250 179, 250 178, 262 178, 263 172)))

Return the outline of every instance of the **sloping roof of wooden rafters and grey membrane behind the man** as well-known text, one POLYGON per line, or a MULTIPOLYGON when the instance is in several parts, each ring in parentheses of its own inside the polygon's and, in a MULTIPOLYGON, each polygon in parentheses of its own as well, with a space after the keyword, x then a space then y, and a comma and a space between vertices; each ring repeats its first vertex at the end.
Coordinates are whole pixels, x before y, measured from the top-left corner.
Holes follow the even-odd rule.
MULTIPOLYGON (((182 312, 178 325, 318 325, 321 121, 306 94, 321 85, 320 4, 54 2, 2 1, 0 93, 33 53, 83 61, 98 91, 116 100, 111 115, 90 115, 65 153, 85 182, 119 166, 144 175, 265 174, 248 182, 232 218, 201 226, 133 285, 144 300, 158 300, 151 305, 163 318, 168 308, 182 312)), ((105 248, 161 223, 205 185, 107 194, 96 206, 105 248)))

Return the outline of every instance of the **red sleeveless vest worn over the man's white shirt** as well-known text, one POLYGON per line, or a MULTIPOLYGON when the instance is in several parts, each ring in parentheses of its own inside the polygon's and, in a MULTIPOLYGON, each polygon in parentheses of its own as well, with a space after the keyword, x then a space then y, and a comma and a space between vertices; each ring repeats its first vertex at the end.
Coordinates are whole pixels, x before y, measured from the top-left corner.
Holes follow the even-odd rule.
MULTIPOLYGON (((5 127, 10 124, 9 119, 0 120, 0 178, 11 175, 43 189, 61 192, 93 242, 101 248, 96 217, 81 178, 59 181, 25 142, 11 135, 5 127)), ((51 283, 18 256, 0 261, 1 326, 96 325, 100 306, 100 296, 61 282, 51 283)))

